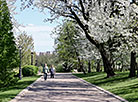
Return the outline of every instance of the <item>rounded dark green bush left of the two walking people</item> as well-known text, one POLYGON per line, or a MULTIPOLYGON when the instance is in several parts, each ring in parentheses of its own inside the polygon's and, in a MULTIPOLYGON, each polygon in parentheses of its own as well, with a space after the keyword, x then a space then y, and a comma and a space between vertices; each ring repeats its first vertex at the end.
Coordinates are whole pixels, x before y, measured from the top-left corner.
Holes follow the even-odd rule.
POLYGON ((38 67, 33 65, 26 65, 22 68, 23 76, 34 76, 37 75, 38 67))

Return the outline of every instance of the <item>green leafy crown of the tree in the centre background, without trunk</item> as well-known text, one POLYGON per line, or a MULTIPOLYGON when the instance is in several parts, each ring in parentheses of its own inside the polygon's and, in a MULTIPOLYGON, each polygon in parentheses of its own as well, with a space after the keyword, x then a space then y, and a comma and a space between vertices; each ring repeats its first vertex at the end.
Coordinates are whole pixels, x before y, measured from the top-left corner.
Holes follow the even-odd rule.
POLYGON ((76 34, 78 30, 75 28, 72 22, 66 21, 61 28, 59 28, 59 33, 57 37, 57 53, 59 57, 66 61, 76 59, 78 56, 77 45, 78 39, 76 34))

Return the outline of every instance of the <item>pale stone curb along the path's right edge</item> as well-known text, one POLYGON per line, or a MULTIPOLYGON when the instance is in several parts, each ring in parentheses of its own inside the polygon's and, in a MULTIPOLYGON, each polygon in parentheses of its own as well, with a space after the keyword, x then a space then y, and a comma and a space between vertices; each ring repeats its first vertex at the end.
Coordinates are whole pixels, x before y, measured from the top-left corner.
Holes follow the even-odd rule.
MULTIPOLYGON (((73 74, 72 74, 72 75, 73 75, 73 74)), ((103 89, 103 88, 101 88, 101 87, 99 87, 99 86, 96 86, 96 85, 94 85, 94 84, 92 84, 92 83, 90 83, 90 82, 87 82, 87 81, 83 80, 82 78, 79 78, 79 77, 77 77, 77 76, 75 76, 75 75, 73 75, 73 76, 76 77, 76 78, 78 78, 80 81, 83 81, 84 83, 87 83, 87 84, 89 84, 89 85, 92 85, 92 86, 96 87, 98 90, 103 91, 104 93, 106 93, 106 94, 108 94, 108 95, 110 95, 110 96, 113 96, 113 97, 115 97, 116 99, 118 99, 118 100, 120 100, 120 101, 122 101, 122 102, 128 102, 127 100, 123 99, 122 97, 117 96, 117 95, 115 95, 115 94, 113 94, 113 93, 111 93, 111 92, 109 92, 109 91, 107 91, 107 90, 105 90, 105 89, 103 89)))

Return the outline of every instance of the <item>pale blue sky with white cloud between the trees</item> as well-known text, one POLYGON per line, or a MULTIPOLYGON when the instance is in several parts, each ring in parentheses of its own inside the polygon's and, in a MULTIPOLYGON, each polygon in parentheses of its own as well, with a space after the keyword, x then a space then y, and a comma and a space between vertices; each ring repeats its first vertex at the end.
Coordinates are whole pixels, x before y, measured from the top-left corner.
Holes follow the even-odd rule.
POLYGON ((39 12, 38 9, 25 9, 20 11, 20 3, 15 5, 17 14, 14 16, 19 24, 25 27, 19 27, 21 31, 27 32, 34 40, 34 50, 36 52, 54 51, 54 39, 52 38, 52 31, 57 23, 44 22, 49 13, 39 12))

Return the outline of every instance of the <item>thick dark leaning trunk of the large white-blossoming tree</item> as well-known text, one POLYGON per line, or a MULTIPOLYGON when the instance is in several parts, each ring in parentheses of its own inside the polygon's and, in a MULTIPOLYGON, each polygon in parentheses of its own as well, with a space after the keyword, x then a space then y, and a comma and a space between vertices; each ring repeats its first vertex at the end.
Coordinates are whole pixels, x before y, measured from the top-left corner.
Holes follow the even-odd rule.
POLYGON ((83 29, 85 35, 86 35, 86 38, 93 44, 97 47, 97 49, 100 51, 101 53, 101 56, 102 56, 102 60, 103 60, 103 64, 104 64, 104 69, 105 69, 105 72, 107 73, 107 77, 110 77, 110 76, 114 76, 115 73, 113 71, 113 69, 111 68, 111 62, 109 61, 108 59, 108 56, 107 56, 107 53, 106 51, 103 49, 104 46, 99 43, 99 41, 95 40, 93 37, 91 37, 89 35, 90 31, 89 31, 89 27, 88 25, 84 25, 80 18, 78 17, 77 13, 74 12, 72 10, 72 8, 70 8, 70 12, 71 14, 74 16, 74 19, 75 21, 77 21, 78 25, 83 29))

